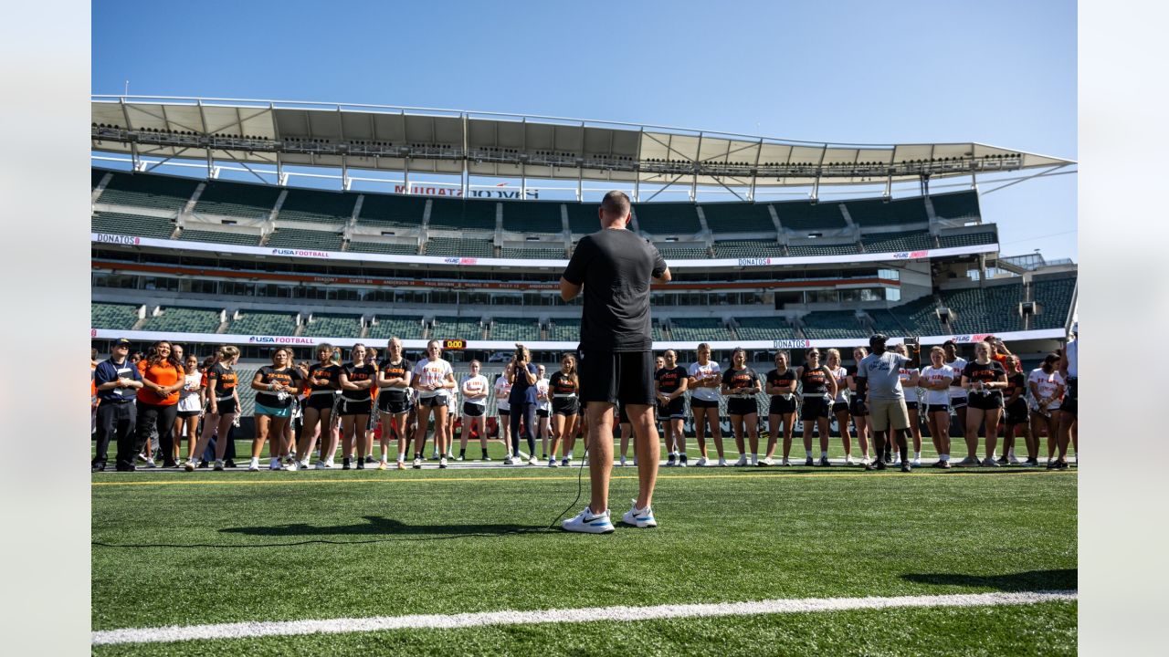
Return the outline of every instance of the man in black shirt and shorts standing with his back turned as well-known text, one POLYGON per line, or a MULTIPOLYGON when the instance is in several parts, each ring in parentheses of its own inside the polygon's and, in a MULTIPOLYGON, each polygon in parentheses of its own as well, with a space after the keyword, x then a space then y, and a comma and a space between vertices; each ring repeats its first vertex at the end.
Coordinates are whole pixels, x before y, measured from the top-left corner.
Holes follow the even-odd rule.
POLYGON ((609 471, 613 469, 613 409, 628 408, 637 454, 637 499, 622 517, 635 527, 656 527, 650 504, 657 480, 658 433, 653 424, 653 353, 650 332, 650 283, 666 283, 670 270, 653 244, 625 229, 629 196, 604 195, 599 215, 602 230, 581 238, 560 278, 560 297, 576 298, 584 289, 581 317, 580 397, 588 419, 592 498, 569 532, 603 534, 609 519, 609 471))

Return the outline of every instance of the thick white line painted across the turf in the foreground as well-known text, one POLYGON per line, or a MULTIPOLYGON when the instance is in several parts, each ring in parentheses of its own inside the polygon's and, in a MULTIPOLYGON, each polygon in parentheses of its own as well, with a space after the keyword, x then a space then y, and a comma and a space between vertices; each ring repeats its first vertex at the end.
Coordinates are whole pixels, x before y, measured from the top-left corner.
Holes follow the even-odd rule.
POLYGON ((656 607, 587 607, 582 609, 541 609, 533 611, 480 611, 454 615, 374 616, 369 618, 327 618, 220 623, 214 625, 170 625, 126 628, 94 632, 94 645, 123 643, 166 643, 209 638, 257 638, 310 634, 369 632, 400 629, 455 629, 480 625, 527 625, 539 623, 584 623, 593 621, 649 621, 655 618, 698 618, 844 611, 849 609, 890 609, 902 607, 988 607, 1071 601, 1075 590, 977 593, 955 595, 904 595, 897 597, 807 597, 720 602, 710 604, 659 604, 656 607))

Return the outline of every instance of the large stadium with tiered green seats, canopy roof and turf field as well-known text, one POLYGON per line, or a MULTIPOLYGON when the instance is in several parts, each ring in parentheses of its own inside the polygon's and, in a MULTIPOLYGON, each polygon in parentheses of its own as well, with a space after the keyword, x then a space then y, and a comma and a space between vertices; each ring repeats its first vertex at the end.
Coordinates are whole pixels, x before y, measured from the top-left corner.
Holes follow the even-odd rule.
MULTIPOLYGON (((683 366, 705 343, 724 369, 739 348, 760 373, 774 367, 780 350, 793 366, 810 351, 838 350, 841 366, 852 372, 853 348, 883 333, 891 344, 920 340, 922 354, 953 341, 964 359, 994 336, 1026 373, 1064 346, 1077 320, 1075 264, 1001 253, 995 217, 981 208, 981 196, 1002 186, 1074 173, 1072 160, 1025 150, 807 143, 463 110, 131 96, 91 97, 91 140, 92 346, 104 359, 116 340, 144 353, 165 340, 200 361, 223 346, 237 347, 240 426, 229 441, 241 455, 250 451, 256 430, 257 390, 247 382, 271 362, 277 346, 297 362, 312 362, 327 344, 343 350, 344 361, 354 345, 382 352, 400 338, 406 358, 416 362, 428 341, 440 340, 456 378, 473 360, 493 381, 523 344, 533 362, 556 372, 561 354, 577 348, 581 330, 580 300, 562 302, 558 281, 576 243, 599 229, 600 199, 609 189, 629 195, 630 229, 653 244, 673 274, 650 296, 653 351, 672 350, 683 366)), ((756 396, 766 408, 769 395, 756 396)), ((487 434, 498 438, 493 395, 486 407, 487 434)), ((762 413, 759 420, 761 438, 770 440, 773 427, 762 413)), ((427 461, 421 471, 338 466, 295 473, 279 471, 270 448, 258 473, 244 471, 243 456, 240 468, 223 472, 206 463, 184 472, 181 458, 154 468, 154 459, 170 462, 170 454, 147 450, 133 473, 94 473, 95 652, 151 653, 159 642, 175 642, 171 653, 253 652, 256 636, 272 636, 264 645, 277 652, 350 653, 376 637, 380 646, 407 652, 456 646, 592 653, 609 645, 593 632, 638 631, 652 637, 645 653, 943 653, 954 648, 947 636, 981 637, 1004 625, 1016 631, 988 638, 987 652, 1075 650, 1075 469, 974 468, 920 471, 912 479, 859 468, 822 470, 810 466, 811 451, 803 464, 800 422, 795 466, 760 469, 754 458, 745 464, 747 455, 732 444, 725 400, 719 424, 727 458, 740 458, 742 466, 663 471, 656 509, 680 531, 664 525, 648 538, 617 532, 625 548, 651 555, 653 565, 636 578, 617 563, 599 565, 599 586, 576 580, 581 565, 607 548, 546 530, 579 493, 580 471, 542 468, 547 454, 533 466, 534 449, 512 464, 507 447, 493 440, 491 461, 459 458, 447 469, 444 459, 445 471, 427 461), (277 471, 267 471, 270 457, 277 471), (150 498, 126 495, 147 490, 150 498), (842 490, 853 499, 891 502, 873 503, 862 517, 842 490), (309 491, 311 505, 302 497, 309 491), (406 505, 400 493, 427 493, 429 502, 419 496, 406 505), (181 519, 192 496, 207 509, 198 524, 181 519), (216 505, 222 496, 233 504, 216 505), (362 504, 362 496, 378 502, 362 504), (518 497, 544 503, 517 507, 509 500, 518 497), (734 499, 742 509, 714 509, 711 499, 734 499), (908 505, 913 520, 906 525, 900 506, 908 499, 921 502, 908 505), (477 500, 473 509, 469 500, 477 500), (133 523, 143 504, 165 518, 133 523), (1042 519, 1023 519, 1021 511, 1032 505, 1044 509, 1042 519), (839 521, 817 521, 826 517, 839 521), (732 531, 703 532, 708 523, 732 531), (956 535, 953 527, 970 531, 956 535), (420 556, 422 572, 414 575, 426 594, 369 589, 364 565, 426 552, 386 542, 433 539, 444 539, 436 544, 443 554, 420 556), (253 545, 267 549, 220 549, 253 545), (914 554, 905 555, 911 545, 914 554), (188 585, 201 587, 195 595, 184 587, 160 592, 133 575, 167 576, 161 562, 179 551, 214 561, 216 572, 230 576, 184 573, 188 585), (479 576, 478 555, 485 553, 494 555, 485 567, 498 576, 479 576), (758 554, 768 562, 749 565, 758 554), (504 574, 533 559, 544 573, 570 576, 533 582, 504 574), (286 563, 309 561, 319 563, 305 579, 265 580, 271 573, 281 578, 286 563), (810 581, 809 568, 821 579, 810 581), (676 576, 679 569, 714 580, 693 588, 676 576), (209 608, 201 606, 212 604, 206 595, 219 601, 216 611, 203 613, 209 608), (926 596, 948 602, 914 602, 926 596), (817 610, 815 601, 833 599, 891 602, 817 610), (304 608, 321 600, 311 611, 304 608), (660 611, 669 604, 775 600, 800 603, 660 611), (646 611, 556 616, 615 606, 646 611), (500 610, 539 620, 450 622, 500 610), (399 623, 415 613, 434 617, 399 623), (835 620, 825 628, 819 623, 829 615, 835 620), (378 623, 368 630, 354 629, 359 623, 275 627, 373 616, 378 623), (885 631, 907 620, 934 634, 885 631), (241 629, 248 623, 267 634, 248 634, 241 629), (1037 646, 1029 632, 1053 638, 1037 646), (745 634, 756 638, 745 642, 745 634), (858 648, 850 642, 859 635, 870 638, 858 648)), ((683 454, 689 449, 693 458, 693 419, 684 427, 683 454)), ((830 464, 852 464, 859 451, 845 454, 843 427, 835 419, 831 427, 830 464)), ((380 427, 372 430, 380 437, 380 427)), ((459 423, 451 437, 461 433, 459 423)), ((961 443, 956 421, 950 435, 961 443)), ((918 448, 927 463, 939 456, 929 442, 927 433, 918 448)), ((583 464, 583 445, 579 441, 573 451, 568 443, 552 459, 583 464)), ((383 445, 380 452, 372 441, 368 447, 386 459, 383 445)), ((1022 437, 1016 449, 1022 455, 1022 437)), ((663 454, 672 465, 670 448, 663 445, 663 454)), ((1008 458, 1005 447, 987 456, 1004 464, 1008 458)), ((621 479, 635 477, 615 470, 614 478, 628 487, 621 479)))

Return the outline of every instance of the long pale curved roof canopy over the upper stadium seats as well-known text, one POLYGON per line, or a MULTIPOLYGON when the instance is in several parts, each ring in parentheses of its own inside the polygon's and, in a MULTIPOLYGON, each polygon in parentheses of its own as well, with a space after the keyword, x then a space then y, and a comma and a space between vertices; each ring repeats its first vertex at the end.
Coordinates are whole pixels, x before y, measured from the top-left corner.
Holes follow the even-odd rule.
MULTIPOLYGON (((383 105, 92 96, 92 148, 168 159, 748 188, 976 177, 1072 160, 977 143, 832 144, 383 105)), ((1039 172, 1040 174, 1045 172, 1039 172)))

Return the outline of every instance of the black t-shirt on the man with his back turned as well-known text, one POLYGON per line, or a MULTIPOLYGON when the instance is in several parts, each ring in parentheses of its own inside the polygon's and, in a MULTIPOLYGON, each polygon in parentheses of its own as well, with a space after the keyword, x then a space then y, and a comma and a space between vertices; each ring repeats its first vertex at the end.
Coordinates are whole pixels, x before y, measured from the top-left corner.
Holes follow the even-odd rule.
POLYGON ((581 237, 563 278, 584 285, 581 348, 609 352, 649 351, 650 282, 665 272, 653 244, 624 229, 581 237))

